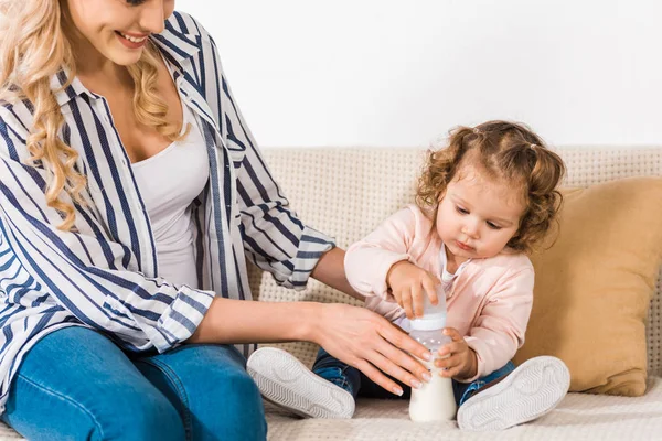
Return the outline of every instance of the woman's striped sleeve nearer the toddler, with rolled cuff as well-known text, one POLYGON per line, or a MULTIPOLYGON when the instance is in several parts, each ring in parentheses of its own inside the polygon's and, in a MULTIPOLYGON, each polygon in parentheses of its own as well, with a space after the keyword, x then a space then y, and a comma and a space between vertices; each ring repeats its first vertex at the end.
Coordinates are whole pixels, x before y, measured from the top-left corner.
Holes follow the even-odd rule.
MULTIPOLYGON (((221 88, 215 111, 225 142, 229 150, 244 152, 239 166, 235 164, 244 251, 279 284, 303 289, 320 257, 335 246, 334 240, 306 225, 290 207, 232 95, 214 41, 200 29, 211 45, 205 52, 213 57, 214 75, 207 77, 217 79, 206 87, 221 88)), ((212 94, 207 90, 206 95, 212 94)))

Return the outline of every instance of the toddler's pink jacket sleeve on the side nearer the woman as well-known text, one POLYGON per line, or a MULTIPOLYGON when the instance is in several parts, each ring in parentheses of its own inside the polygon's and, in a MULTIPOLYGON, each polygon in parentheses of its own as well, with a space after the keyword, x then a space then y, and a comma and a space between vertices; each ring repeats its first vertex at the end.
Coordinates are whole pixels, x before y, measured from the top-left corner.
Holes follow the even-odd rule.
POLYGON ((345 255, 348 281, 357 292, 377 295, 395 302, 388 292, 386 276, 401 260, 410 260, 409 248, 416 230, 416 217, 406 207, 386 218, 362 240, 353 244, 345 255))

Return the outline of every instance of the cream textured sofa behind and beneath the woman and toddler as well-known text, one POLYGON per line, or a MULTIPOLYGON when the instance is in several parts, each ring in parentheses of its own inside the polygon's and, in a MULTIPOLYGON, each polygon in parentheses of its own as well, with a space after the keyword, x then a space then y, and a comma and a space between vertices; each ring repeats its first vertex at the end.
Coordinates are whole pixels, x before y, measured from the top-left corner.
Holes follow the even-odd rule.
MULTIPOLYGON (((413 202, 426 149, 266 149, 264 157, 292 207, 309 225, 335 237, 340 247, 370 233, 382 219, 413 202)), ((589 186, 628 176, 662 176, 662 148, 562 148, 568 173, 564 185, 589 186)), ((662 204, 662 200, 650 201, 662 204)), ((662 223, 660 224, 662 228, 662 223)), ((250 266, 250 284, 260 301, 360 304, 311 280, 303 291, 278 287, 250 266)), ((300 419, 265 402, 269 440, 662 440, 662 289, 652 288, 645 335, 645 394, 621 397, 570 392, 548 415, 502 432, 462 432, 455 421, 414 423, 408 401, 360 399, 351 420, 300 419)), ((317 347, 282 347, 308 366, 317 347)), ((597 362, 599 363, 599 361, 597 362)), ((21 437, 0 427, 0 440, 21 437)))

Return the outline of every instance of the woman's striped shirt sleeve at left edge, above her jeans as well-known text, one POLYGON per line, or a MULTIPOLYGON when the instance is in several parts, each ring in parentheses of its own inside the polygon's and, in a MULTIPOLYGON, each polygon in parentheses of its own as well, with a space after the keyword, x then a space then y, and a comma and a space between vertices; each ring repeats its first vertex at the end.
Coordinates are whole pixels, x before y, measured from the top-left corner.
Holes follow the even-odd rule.
MULTIPOLYGON (((76 205, 76 224, 94 234, 63 232, 46 204, 45 171, 25 159, 26 129, 0 115, 0 259, 2 290, 24 306, 52 302, 122 347, 164 352, 189 338, 214 293, 175 287, 138 271, 135 257, 76 205), (8 280, 13 280, 9 283, 8 280)), ((65 198, 63 201, 71 202, 65 198)))

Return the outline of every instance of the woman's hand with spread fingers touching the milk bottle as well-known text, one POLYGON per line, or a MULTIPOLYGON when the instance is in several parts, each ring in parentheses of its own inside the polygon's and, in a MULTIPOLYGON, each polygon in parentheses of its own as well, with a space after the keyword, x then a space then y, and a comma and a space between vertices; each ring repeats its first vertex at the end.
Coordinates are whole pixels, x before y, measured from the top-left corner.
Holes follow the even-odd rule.
POLYGON ((320 306, 312 338, 329 354, 398 396, 403 389, 384 374, 415 388, 430 380, 425 366, 409 355, 429 359, 429 351, 386 319, 349 304, 320 306))

